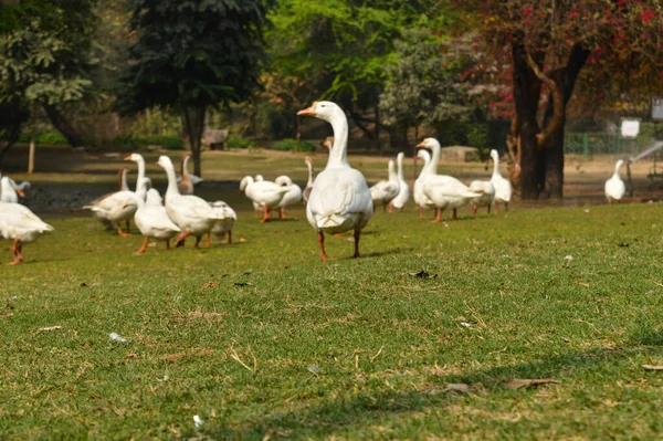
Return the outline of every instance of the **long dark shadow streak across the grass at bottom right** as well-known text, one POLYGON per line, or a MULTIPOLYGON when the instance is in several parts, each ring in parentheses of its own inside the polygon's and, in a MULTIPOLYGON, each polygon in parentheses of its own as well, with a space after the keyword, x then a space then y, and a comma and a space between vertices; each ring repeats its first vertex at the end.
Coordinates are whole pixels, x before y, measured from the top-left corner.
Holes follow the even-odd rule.
MULTIPOLYGON (((589 351, 570 351, 558 357, 540 359, 532 363, 499 366, 490 369, 469 370, 461 375, 431 376, 430 382, 438 385, 428 391, 393 390, 378 391, 375 395, 361 393, 349 398, 329 400, 297 411, 272 413, 260 418, 243 428, 222 427, 210 433, 218 439, 260 440, 271 439, 308 439, 311 437, 328 438, 335 433, 367 428, 379 424, 388 418, 418 412, 448 405, 457 403, 457 395, 444 392, 448 384, 466 384, 483 390, 482 399, 491 395, 512 393, 520 397, 532 395, 536 389, 509 390, 504 381, 523 378, 551 378, 561 381, 565 387, 567 378, 578 378, 582 371, 596 370, 606 365, 617 367, 620 363, 638 355, 659 353, 656 348, 593 349, 589 351)), ((608 370, 610 366, 606 367, 608 370)), ((497 399, 497 397, 496 397, 497 399)), ((347 434, 347 433, 346 433, 347 434)))

